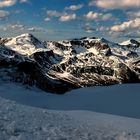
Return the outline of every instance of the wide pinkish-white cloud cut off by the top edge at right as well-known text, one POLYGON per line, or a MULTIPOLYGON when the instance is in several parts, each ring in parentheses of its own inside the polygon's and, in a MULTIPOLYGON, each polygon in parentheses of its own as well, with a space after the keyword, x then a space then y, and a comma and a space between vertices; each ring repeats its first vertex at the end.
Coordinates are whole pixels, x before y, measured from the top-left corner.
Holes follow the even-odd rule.
POLYGON ((98 6, 106 9, 116 9, 116 8, 133 8, 140 7, 140 0, 91 0, 89 2, 90 6, 98 6))

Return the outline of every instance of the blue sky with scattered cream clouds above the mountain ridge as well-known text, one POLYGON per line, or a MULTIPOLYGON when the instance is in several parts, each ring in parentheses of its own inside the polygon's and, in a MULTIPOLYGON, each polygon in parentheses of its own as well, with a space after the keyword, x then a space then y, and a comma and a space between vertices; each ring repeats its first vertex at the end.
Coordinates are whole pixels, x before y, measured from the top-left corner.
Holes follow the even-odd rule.
POLYGON ((0 36, 140 40, 140 0, 0 0, 0 36))

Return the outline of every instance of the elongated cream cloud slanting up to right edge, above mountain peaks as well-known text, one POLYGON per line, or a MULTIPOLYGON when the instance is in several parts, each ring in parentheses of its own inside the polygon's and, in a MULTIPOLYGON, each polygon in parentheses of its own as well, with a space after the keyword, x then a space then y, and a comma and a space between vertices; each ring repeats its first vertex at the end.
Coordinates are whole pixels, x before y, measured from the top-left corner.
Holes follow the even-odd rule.
POLYGON ((120 32, 130 29, 135 29, 140 27, 140 18, 136 18, 134 20, 129 20, 127 22, 123 22, 120 25, 114 25, 110 29, 114 32, 120 32))

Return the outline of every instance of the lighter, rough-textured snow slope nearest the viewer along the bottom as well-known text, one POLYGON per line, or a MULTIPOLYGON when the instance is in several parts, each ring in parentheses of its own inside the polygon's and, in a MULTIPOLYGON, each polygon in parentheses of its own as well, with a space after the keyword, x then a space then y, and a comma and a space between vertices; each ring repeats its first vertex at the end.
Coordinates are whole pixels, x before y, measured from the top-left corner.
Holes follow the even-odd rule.
POLYGON ((0 97, 0 140, 139 139, 138 119, 89 111, 50 111, 0 97))

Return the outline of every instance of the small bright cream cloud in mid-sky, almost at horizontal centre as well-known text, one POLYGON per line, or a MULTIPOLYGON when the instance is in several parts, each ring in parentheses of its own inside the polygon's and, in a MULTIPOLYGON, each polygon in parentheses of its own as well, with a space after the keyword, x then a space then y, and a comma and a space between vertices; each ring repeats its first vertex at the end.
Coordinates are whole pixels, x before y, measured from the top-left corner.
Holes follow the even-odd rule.
POLYGON ((59 18, 61 22, 70 21, 74 19, 76 19, 76 14, 65 14, 59 18))

